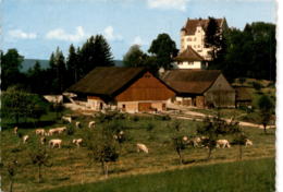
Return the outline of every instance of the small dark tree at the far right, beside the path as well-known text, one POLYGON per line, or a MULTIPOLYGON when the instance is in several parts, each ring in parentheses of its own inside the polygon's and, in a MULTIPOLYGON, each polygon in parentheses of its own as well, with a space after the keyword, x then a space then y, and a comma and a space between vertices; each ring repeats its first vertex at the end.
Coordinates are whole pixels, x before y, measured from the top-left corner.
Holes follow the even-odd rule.
POLYGON ((263 125, 264 133, 267 133, 267 125, 272 117, 274 105, 267 95, 262 95, 258 100, 258 107, 260 121, 263 125))

